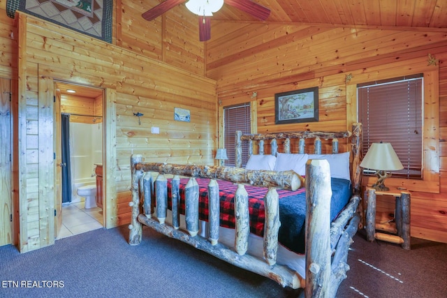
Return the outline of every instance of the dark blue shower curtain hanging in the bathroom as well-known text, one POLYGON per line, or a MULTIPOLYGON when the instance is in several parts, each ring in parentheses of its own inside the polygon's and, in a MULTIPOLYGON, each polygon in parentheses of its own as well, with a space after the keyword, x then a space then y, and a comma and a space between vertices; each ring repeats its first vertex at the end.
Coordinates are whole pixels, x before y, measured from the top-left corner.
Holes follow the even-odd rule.
POLYGON ((62 203, 71 202, 70 115, 61 114, 62 203))

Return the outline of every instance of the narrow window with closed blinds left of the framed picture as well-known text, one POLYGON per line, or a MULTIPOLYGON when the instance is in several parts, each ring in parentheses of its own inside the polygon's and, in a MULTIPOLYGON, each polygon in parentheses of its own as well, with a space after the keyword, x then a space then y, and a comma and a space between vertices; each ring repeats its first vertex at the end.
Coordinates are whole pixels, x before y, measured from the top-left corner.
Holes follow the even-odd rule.
MULTIPOLYGON (((228 155, 225 165, 235 165, 235 132, 242 131, 242 134, 250 131, 250 103, 223 107, 223 142, 228 155)), ((242 144, 242 167, 248 161, 249 148, 247 142, 242 144)))

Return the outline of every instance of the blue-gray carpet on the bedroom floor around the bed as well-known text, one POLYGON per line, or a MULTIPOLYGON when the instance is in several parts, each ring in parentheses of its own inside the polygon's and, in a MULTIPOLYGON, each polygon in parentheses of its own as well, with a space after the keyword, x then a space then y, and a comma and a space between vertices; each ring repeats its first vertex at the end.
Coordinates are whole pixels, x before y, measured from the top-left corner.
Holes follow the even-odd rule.
MULTIPOLYGON (((0 297, 297 297, 174 239, 143 230, 95 230, 20 254, 0 247, 0 297), (18 286, 18 288, 16 287, 18 286)), ((354 237, 348 278, 337 297, 445 297, 447 244, 412 239, 412 250, 354 237)))

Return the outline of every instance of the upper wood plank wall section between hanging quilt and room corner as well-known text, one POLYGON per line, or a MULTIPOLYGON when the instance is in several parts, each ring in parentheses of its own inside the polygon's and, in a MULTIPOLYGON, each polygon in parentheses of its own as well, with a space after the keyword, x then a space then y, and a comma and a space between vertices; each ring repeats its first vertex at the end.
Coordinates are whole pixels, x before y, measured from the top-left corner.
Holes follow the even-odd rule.
POLYGON ((159 3, 159 0, 115 1, 116 45, 205 75, 205 43, 198 42, 196 15, 179 5, 151 22, 141 17, 159 3))

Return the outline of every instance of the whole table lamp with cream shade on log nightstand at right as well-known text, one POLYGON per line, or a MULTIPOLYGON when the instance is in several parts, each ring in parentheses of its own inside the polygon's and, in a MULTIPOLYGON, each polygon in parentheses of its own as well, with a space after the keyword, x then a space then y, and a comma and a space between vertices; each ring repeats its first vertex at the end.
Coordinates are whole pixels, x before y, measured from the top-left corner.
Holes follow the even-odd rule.
POLYGON ((372 185, 377 191, 389 191, 384 181, 391 177, 391 173, 386 171, 402 170, 404 166, 400 163, 396 152, 390 143, 372 143, 360 167, 376 170, 377 182, 372 185))

